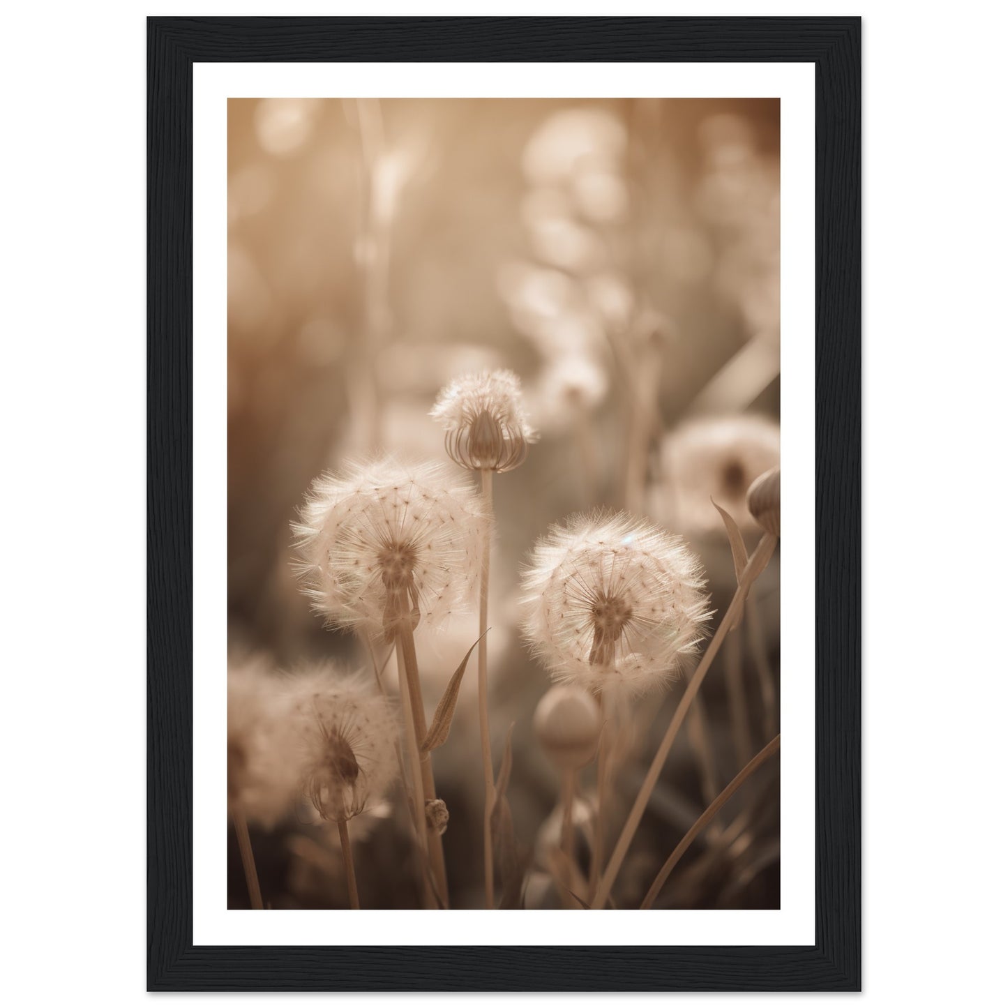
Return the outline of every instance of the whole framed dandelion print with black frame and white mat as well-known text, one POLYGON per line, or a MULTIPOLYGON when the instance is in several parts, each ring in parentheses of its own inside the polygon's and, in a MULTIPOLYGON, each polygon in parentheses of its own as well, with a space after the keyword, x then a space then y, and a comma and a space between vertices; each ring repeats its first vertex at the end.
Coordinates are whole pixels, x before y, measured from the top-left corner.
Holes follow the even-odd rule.
POLYGON ((859 117, 857 18, 148 19, 150 990, 859 989, 859 117))

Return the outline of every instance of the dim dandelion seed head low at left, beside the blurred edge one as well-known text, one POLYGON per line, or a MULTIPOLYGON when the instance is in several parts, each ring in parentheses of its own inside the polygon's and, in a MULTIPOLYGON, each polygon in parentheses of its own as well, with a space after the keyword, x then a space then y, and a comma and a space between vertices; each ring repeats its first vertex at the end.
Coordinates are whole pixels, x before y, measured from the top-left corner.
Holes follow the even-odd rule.
POLYGON ((294 675, 287 697, 300 787, 319 815, 346 823, 379 805, 397 766, 389 702, 367 676, 329 663, 294 675))

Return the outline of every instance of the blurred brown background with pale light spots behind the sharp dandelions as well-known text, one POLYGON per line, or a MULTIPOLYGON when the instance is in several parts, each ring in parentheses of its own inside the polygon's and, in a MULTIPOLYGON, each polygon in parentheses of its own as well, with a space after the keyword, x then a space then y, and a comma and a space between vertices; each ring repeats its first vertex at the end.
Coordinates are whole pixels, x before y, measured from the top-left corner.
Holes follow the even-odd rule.
MULTIPOLYGON (((515 630, 519 564, 550 522, 626 507, 683 535, 713 606, 727 608, 733 564, 710 497, 752 545, 745 490, 779 460, 778 144, 776 100, 229 102, 231 661, 364 663, 352 637, 323 629, 291 572, 289 522, 308 484, 377 450, 446 459, 427 415, 438 389, 468 371, 517 372, 542 437, 494 481, 488 641, 495 762, 514 723, 528 907, 559 905, 543 856, 558 778, 532 730, 549 682, 515 630)), ((428 716, 477 622, 420 628, 428 716)), ((617 905, 639 904, 778 730, 778 627, 774 562, 676 740, 617 905)), ((615 788, 627 804, 681 689, 628 721, 615 788)), ((482 892, 475 695, 474 671, 434 755, 456 906, 482 892)), ((746 783, 656 906, 779 905, 778 779, 771 761, 746 783)), ((355 821, 365 906, 417 905, 396 803, 355 821)), ((298 815, 253 830, 253 844, 274 908, 346 905, 328 827, 298 815)), ((229 905, 247 906, 231 833, 229 852, 229 905)))

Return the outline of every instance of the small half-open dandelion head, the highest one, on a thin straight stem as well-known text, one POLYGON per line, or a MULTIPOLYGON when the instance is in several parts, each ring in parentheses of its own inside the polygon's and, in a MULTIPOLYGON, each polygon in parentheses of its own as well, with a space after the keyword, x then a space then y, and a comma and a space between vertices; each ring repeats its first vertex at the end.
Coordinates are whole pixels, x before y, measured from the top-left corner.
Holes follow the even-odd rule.
POLYGON ((513 371, 481 371, 446 385, 430 415, 445 428, 445 450, 465 469, 505 473, 536 440, 513 371))

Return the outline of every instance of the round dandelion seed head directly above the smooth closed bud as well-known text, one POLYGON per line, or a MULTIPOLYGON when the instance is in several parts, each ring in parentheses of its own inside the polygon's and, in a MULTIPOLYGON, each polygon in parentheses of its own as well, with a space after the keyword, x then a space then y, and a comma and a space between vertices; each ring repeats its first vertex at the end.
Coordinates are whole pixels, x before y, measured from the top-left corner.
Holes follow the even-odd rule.
POLYGON ((696 653, 710 618, 699 561, 626 513, 552 525, 522 573, 522 629, 559 682, 635 696, 696 653))

